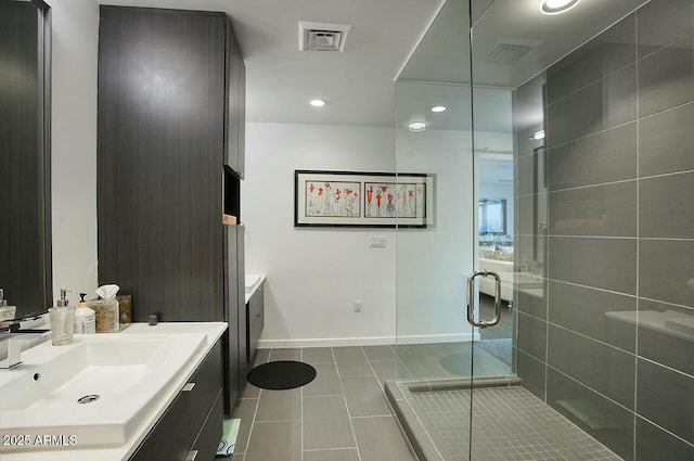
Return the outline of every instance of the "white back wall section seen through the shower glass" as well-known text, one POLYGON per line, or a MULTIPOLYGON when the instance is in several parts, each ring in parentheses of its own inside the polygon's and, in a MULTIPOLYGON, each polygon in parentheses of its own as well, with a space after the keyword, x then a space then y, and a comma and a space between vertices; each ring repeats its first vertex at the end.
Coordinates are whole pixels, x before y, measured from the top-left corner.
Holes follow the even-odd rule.
MULTIPOLYGON (((477 132, 477 145, 510 150, 512 137, 477 132)), ((466 278, 474 267, 472 137, 468 131, 398 131, 398 170, 435 175, 434 225, 398 234, 400 342, 468 341, 466 278)))

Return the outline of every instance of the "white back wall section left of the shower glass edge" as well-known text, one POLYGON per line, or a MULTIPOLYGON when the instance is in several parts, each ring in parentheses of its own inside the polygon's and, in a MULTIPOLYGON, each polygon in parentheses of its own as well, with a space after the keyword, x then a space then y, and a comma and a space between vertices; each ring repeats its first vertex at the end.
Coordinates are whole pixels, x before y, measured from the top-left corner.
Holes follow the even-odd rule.
POLYGON ((246 273, 267 276, 261 347, 391 342, 395 231, 295 228, 295 169, 395 171, 395 130, 246 125, 241 209, 246 273), (386 247, 370 248, 369 235, 386 247))

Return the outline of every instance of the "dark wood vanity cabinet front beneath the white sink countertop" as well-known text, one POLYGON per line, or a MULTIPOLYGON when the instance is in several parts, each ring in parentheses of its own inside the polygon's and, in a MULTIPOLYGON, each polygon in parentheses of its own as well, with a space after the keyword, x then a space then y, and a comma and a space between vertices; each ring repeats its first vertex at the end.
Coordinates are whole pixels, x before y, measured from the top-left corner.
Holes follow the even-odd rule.
POLYGON ((211 461, 222 435, 222 344, 217 342, 130 461, 211 461))

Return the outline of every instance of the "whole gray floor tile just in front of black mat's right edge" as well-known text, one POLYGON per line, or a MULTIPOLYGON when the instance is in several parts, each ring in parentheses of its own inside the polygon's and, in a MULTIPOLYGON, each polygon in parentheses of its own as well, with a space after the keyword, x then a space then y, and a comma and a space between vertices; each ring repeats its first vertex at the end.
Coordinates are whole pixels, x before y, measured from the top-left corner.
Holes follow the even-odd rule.
POLYGON ((356 446, 342 395, 304 397, 304 449, 356 446))

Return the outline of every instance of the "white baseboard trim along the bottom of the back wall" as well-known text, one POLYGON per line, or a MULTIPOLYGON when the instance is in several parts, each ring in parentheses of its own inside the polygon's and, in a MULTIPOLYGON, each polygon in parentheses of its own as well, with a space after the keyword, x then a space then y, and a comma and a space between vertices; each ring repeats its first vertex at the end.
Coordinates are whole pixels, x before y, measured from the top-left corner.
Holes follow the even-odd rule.
MULTIPOLYGON (((475 341, 479 341, 479 333, 475 332, 475 341)), ((433 344, 433 343, 463 343, 473 340, 472 333, 433 334, 411 336, 375 336, 375 337, 325 337, 305 340, 260 340, 259 349, 278 349, 295 347, 342 347, 342 346, 384 346, 391 344, 433 344)))

